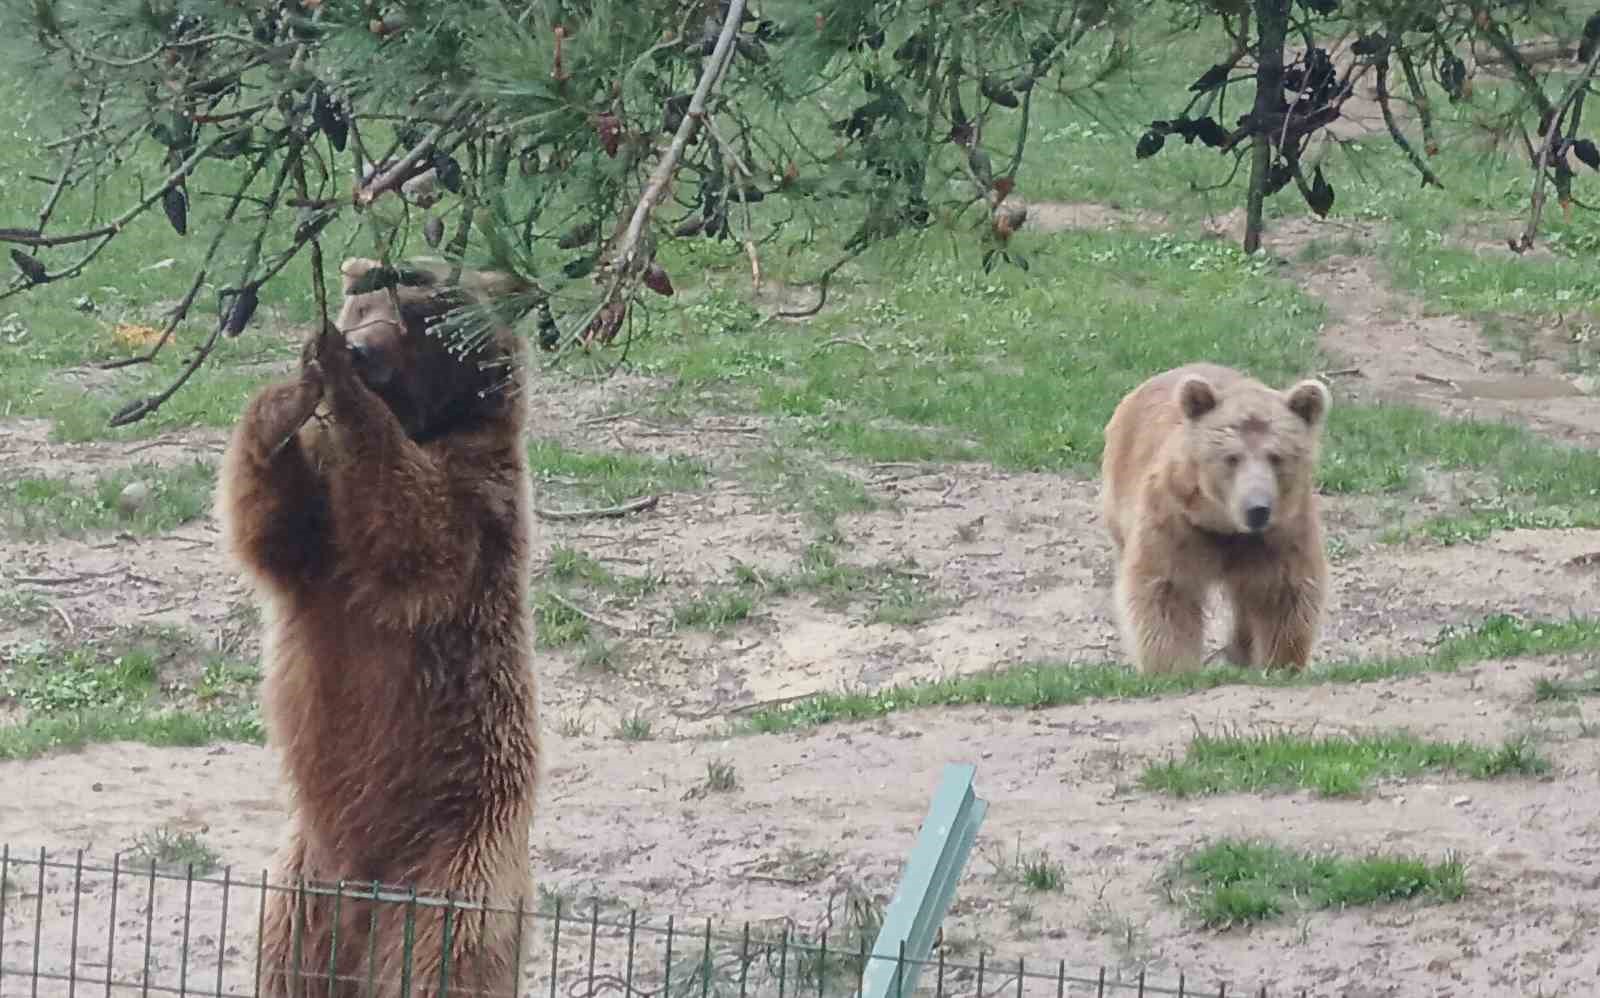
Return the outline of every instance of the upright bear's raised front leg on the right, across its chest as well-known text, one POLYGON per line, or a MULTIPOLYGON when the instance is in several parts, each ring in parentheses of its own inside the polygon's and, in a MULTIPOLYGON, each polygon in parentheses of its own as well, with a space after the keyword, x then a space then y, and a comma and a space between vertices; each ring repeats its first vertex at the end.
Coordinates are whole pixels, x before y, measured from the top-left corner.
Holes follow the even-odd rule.
POLYGON ((355 374, 344 337, 325 329, 318 365, 338 438, 330 505, 341 560, 358 565, 347 600, 382 624, 414 627, 466 606, 477 569, 474 518, 454 483, 355 374))

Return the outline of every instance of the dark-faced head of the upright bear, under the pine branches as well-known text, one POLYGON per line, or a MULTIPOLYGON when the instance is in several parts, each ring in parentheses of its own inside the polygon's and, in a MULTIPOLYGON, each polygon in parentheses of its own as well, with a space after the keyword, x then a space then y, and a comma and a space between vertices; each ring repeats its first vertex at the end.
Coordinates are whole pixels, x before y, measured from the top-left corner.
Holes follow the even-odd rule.
POLYGON ((446 285, 437 269, 389 269, 365 257, 344 261, 339 273, 344 301, 336 325, 352 368, 408 437, 437 437, 518 405, 522 341, 493 305, 526 285, 474 270, 446 285))

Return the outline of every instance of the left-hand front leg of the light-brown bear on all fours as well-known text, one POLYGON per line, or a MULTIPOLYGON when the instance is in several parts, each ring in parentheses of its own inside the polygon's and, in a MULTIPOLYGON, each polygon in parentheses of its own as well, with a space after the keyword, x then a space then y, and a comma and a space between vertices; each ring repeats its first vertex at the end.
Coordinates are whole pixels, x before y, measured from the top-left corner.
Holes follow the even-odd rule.
POLYGON ((1165 566, 1128 547, 1117 571, 1123 645, 1141 673, 1189 672, 1202 664, 1205 601, 1165 566))

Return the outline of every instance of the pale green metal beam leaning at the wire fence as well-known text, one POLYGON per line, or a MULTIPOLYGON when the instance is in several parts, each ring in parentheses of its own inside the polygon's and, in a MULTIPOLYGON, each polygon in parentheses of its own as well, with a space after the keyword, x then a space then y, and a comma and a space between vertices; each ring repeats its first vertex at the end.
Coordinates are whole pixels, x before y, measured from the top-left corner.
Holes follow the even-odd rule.
POLYGON ((989 801, 973 792, 976 774, 978 768, 970 764, 944 768, 917 848, 872 944, 861 998, 899 998, 917 990, 917 976, 933 952, 933 939, 950 908, 978 827, 989 812, 989 801))

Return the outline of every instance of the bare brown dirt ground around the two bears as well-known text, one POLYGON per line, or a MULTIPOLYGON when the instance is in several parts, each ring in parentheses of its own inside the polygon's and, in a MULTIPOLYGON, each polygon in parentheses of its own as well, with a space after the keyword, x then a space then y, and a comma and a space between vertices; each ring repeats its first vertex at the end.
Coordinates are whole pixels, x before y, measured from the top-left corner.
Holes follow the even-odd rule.
MULTIPOLYGON (((1054 227, 1155 224, 1107 208, 1038 208, 1035 222, 1054 227)), ((1235 222, 1214 224, 1226 230, 1235 222)), ((1342 234, 1334 222, 1286 222, 1272 232, 1270 248, 1290 256, 1310 238, 1342 234)), ((1330 305, 1330 350, 1358 358, 1328 373, 1334 405, 1406 398, 1454 414, 1520 419, 1586 445, 1600 438, 1600 400, 1587 385, 1554 363, 1530 365, 1522 353, 1490 349, 1472 323, 1427 315, 1382 285, 1374 261, 1325 257, 1310 267, 1307 288, 1330 305)), ((650 390, 643 381, 594 387, 576 405, 566 395, 560 411, 539 413, 534 424, 576 446, 600 446, 594 424, 582 421, 650 390)), ((714 469, 730 465, 747 440, 710 417, 686 429, 642 417, 603 425, 608 446, 690 453, 714 469)), ((51 445, 46 425, 13 421, 0 432, 0 465, 8 473, 91 475, 221 445, 206 433, 162 438, 138 453, 126 445, 51 445)), ((851 558, 909 558, 920 584, 947 606, 920 625, 896 627, 798 595, 763 603, 752 621, 720 635, 675 630, 650 601, 589 606, 613 637, 626 638, 629 661, 616 673, 584 669, 565 653, 539 662, 549 779, 534 825, 536 872, 552 894, 600 899, 611 915, 634 905, 642 916, 674 913, 680 924, 717 918, 728 931, 741 920, 770 926, 786 916, 806 931, 838 929, 856 892, 888 900, 942 766, 973 763, 990 809, 946 920, 942 950, 963 963, 984 953, 994 974, 982 984, 986 995, 1008 982, 1010 971, 994 968, 1014 968, 1018 958, 1042 969, 1066 960, 1088 977, 1106 966, 1109 979, 1122 980, 1144 968, 1162 984, 1176 984, 1182 971, 1189 987, 1210 985, 1211 993, 1222 980, 1230 990, 1266 984, 1272 993, 1350 996, 1589 993, 1600 974, 1600 950, 1584 942, 1600 923, 1600 741, 1581 737, 1576 718, 1534 718, 1530 697, 1534 678, 1579 672, 1584 664, 1574 656, 1363 686, 1232 688, 1035 712, 907 712, 802 734, 718 739, 736 712, 808 693, 1037 657, 1118 657, 1110 547, 1093 481, 981 465, 835 470, 883 501, 875 512, 840 518, 851 558), (613 734, 634 712, 653 718, 651 741, 613 734), (1557 769, 1542 780, 1395 782, 1349 801, 1174 801, 1134 788, 1142 764, 1181 752, 1197 725, 1405 726, 1430 737, 1494 741, 1533 723, 1555 739, 1557 769), (709 760, 733 763, 734 790, 704 792, 709 760), (1227 833, 1355 852, 1405 848, 1434 859, 1454 851, 1469 864, 1472 889, 1453 905, 1322 912, 1248 931, 1200 931, 1168 902, 1160 872, 1186 846, 1227 833), (1045 849, 1061 860, 1062 889, 1022 891, 1019 849, 1045 849)), ((1376 544, 1397 515, 1448 509, 1459 488, 1450 478, 1430 480, 1403 510, 1371 497, 1328 501, 1339 550, 1320 657, 1419 653, 1443 625, 1491 613, 1595 613, 1592 573, 1571 560, 1600 552, 1600 531, 1506 531, 1454 547, 1376 544)), ((736 563, 792 568, 811 537, 800 513, 773 512, 768 496, 728 478, 704 493, 667 494, 638 517, 541 529, 544 550, 576 547, 614 571, 654 566, 680 597, 726 581, 736 563)), ((245 592, 216 549, 210 520, 138 541, 0 541, 0 565, 10 582, 46 597, 50 627, 61 637, 154 622, 253 648, 242 617, 245 592)), ((1222 625, 1213 621, 1213 640, 1222 625)), ((0 641, 18 632, 0 619, 0 641)), ((200 832, 245 880, 259 876, 282 822, 274 756, 246 745, 99 745, 0 764, 0 841, 13 857, 48 848, 70 862, 83 849, 109 864, 134 835, 173 825, 200 832)), ((72 872, 51 872, 43 899, 35 875, 10 873, 0 998, 30 987, 18 971, 34 960, 35 905, 45 913, 42 963, 66 966, 72 872)), ((90 976, 106 972, 109 886, 109 876, 93 875, 82 889, 78 966, 90 976)), ((158 960, 152 972, 174 987, 184 945, 181 886, 162 888, 150 928, 158 960)), ((122 881, 114 963, 130 980, 138 980, 146 934, 144 889, 139 878, 122 881)), ((222 934, 216 888, 194 889, 190 985, 210 990, 221 972, 224 992, 248 992, 254 896, 235 886, 222 934)), ((586 956, 582 947, 563 944, 558 977, 581 979, 586 956)), ((600 960, 616 958, 618 939, 606 937, 600 960)), ((533 944, 526 966, 528 987, 552 987, 547 934, 533 944)), ((978 982, 962 980, 947 984, 974 993, 978 982)), ((53 987, 46 982, 40 993, 56 993, 53 987)), ((1048 987, 1053 993, 1054 984, 1048 987)), ((1043 988, 1030 982, 1027 992, 1043 988)), ((1093 990, 1075 985, 1069 993, 1093 990)))

